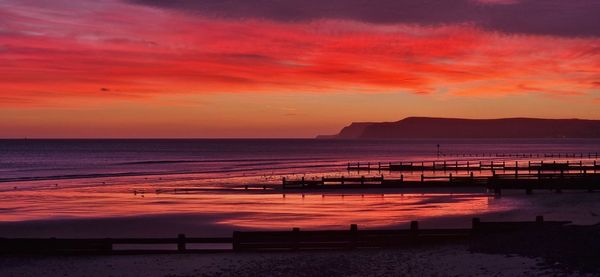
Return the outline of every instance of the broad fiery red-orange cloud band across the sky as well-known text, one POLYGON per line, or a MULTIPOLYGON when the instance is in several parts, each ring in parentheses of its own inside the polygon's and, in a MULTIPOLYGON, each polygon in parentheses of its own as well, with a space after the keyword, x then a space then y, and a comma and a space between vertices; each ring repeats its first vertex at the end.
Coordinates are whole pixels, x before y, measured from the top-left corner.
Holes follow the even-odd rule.
POLYGON ((488 97, 598 91, 600 39, 320 20, 217 20, 110 2, 0 7, 0 105, 220 92, 488 97))

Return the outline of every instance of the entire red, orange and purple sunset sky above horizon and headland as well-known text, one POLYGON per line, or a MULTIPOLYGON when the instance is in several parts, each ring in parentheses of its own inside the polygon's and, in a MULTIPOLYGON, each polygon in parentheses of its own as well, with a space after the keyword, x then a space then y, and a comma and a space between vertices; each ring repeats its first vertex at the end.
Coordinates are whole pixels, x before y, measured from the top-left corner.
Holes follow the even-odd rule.
POLYGON ((597 0, 0 0, 0 138, 600 119, 597 0))

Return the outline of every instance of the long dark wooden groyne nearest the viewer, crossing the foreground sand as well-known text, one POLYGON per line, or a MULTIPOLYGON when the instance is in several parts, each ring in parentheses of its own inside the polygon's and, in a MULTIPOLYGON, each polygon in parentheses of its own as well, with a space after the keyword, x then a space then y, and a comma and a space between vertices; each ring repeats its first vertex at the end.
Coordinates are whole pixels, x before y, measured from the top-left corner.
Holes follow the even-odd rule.
POLYGON ((265 250, 317 250, 356 249, 374 247, 403 247, 415 244, 432 244, 464 241, 480 234, 556 228, 568 221, 544 221, 538 216, 532 222, 483 222, 472 220, 471 228, 421 229, 418 221, 412 221, 409 229, 359 230, 350 225, 349 230, 301 231, 244 231, 233 232, 232 237, 191 238, 180 234, 174 238, 105 238, 105 239, 31 239, 0 238, 0 254, 148 254, 192 253, 215 251, 265 251, 265 250), (193 249, 192 245, 224 244, 227 248, 193 249), (119 250, 118 245, 146 246, 143 250, 119 250), (171 245, 172 250, 151 250, 147 246, 171 245))

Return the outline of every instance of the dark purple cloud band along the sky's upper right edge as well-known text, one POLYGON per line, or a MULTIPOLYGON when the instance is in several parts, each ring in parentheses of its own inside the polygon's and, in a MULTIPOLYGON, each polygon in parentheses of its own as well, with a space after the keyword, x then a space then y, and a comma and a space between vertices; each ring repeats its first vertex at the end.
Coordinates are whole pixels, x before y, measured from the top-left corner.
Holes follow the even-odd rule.
POLYGON ((474 23, 506 33, 600 36, 597 0, 126 0, 229 19, 294 22, 347 19, 368 23, 474 23))

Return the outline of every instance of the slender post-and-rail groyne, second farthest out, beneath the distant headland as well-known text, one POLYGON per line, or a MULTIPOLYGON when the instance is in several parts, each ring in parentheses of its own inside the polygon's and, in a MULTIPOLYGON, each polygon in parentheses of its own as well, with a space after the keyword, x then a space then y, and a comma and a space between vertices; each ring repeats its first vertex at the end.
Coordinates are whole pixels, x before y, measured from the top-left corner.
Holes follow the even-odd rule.
POLYGON ((579 161, 420 161, 348 163, 348 171, 600 171, 597 160, 579 161))

